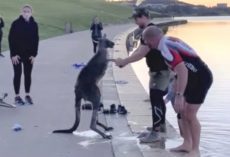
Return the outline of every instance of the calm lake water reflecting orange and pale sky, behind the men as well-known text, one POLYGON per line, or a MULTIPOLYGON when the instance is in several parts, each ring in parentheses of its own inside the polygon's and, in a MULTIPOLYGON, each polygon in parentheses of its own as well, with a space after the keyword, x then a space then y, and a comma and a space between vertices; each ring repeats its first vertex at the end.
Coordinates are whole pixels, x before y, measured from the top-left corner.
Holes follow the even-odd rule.
MULTIPOLYGON (((187 18, 186 25, 171 27, 168 35, 191 45, 209 65, 214 84, 198 117, 202 125, 202 157, 230 156, 230 17, 187 18)), ((145 61, 132 65, 148 91, 145 61), (143 70, 145 69, 145 70, 143 70)), ((177 129, 176 116, 168 105, 167 118, 177 129)))

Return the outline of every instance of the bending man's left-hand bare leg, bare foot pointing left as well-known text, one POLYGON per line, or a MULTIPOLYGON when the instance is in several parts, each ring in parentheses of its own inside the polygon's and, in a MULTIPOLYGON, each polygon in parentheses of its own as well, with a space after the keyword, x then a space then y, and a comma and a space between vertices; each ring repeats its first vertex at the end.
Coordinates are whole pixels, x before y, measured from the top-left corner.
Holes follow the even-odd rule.
POLYGON ((185 104, 185 109, 183 113, 181 113, 181 116, 182 116, 181 128, 183 130, 184 142, 182 145, 176 148, 170 149, 171 151, 174 151, 174 152, 190 152, 192 150, 193 141, 192 141, 192 134, 191 134, 191 130, 190 130, 188 119, 187 119, 187 115, 188 115, 187 106, 188 105, 185 104))

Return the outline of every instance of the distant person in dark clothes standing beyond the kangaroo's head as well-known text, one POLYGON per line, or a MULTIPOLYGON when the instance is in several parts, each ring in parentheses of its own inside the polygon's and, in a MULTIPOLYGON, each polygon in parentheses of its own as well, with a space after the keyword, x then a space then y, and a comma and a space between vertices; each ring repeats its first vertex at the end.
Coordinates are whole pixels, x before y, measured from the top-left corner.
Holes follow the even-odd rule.
POLYGON ((99 39, 102 37, 102 30, 103 26, 102 23, 100 22, 99 18, 96 16, 93 18, 90 30, 92 32, 92 41, 93 41, 93 52, 97 52, 97 45, 99 39))

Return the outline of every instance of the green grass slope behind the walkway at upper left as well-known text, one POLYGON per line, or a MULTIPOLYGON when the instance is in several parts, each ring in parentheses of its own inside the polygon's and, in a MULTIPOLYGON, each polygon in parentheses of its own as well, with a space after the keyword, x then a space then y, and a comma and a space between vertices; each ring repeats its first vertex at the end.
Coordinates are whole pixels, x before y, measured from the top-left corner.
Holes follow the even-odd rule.
POLYGON ((106 24, 122 23, 128 20, 132 10, 105 0, 0 0, 0 15, 5 21, 3 50, 8 49, 10 25, 24 4, 33 6, 41 39, 64 34, 66 22, 73 24, 74 31, 88 29, 95 15, 106 24))

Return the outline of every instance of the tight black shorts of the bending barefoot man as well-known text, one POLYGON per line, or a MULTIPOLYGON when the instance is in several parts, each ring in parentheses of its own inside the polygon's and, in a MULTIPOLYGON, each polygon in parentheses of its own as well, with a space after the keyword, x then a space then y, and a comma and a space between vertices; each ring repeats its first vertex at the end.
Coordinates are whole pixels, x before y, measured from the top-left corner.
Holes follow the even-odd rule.
POLYGON ((208 67, 198 73, 189 71, 188 84, 184 93, 186 102, 189 104, 203 104, 212 82, 213 76, 208 67))

